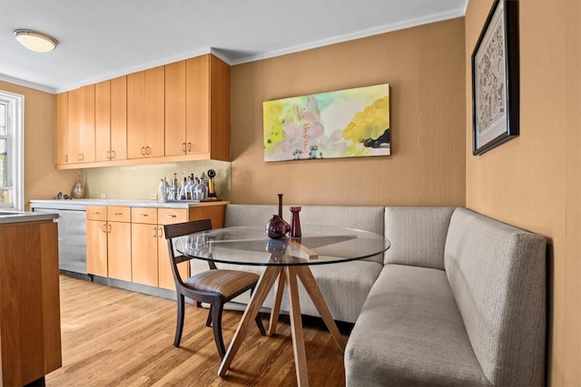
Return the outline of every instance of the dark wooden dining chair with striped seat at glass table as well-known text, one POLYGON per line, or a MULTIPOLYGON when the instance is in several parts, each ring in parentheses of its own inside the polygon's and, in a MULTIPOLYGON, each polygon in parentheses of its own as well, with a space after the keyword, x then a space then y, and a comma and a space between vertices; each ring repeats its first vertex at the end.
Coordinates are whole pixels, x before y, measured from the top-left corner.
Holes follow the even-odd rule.
MULTIPOLYGON (((241 295, 249 290, 252 292, 260 276, 239 270, 218 269, 213 262, 209 261, 209 270, 191 276, 185 281, 182 280, 182 276, 180 276, 180 272, 178 271, 178 264, 190 260, 192 257, 183 255, 176 256, 172 239, 174 237, 183 237, 210 229, 212 229, 210 219, 163 226, 170 253, 170 263, 172 265, 178 303, 173 345, 179 347, 182 340, 184 297, 188 297, 195 301, 198 307, 202 306, 202 303, 210 304, 210 312, 208 313, 206 326, 212 326, 218 353, 223 358, 226 354, 222 339, 222 311, 224 304, 231 301, 237 295, 241 295)), ((256 316, 256 324, 261 334, 265 335, 264 326, 258 315, 256 316)))

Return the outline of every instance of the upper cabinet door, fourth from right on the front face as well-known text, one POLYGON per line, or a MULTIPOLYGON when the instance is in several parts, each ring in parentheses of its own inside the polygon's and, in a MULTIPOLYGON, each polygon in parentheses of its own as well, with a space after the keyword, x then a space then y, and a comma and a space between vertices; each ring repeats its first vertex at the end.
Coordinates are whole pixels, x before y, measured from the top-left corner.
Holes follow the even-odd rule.
POLYGON ((127 159, 145 156, 145 72, 127 75, 127 159))

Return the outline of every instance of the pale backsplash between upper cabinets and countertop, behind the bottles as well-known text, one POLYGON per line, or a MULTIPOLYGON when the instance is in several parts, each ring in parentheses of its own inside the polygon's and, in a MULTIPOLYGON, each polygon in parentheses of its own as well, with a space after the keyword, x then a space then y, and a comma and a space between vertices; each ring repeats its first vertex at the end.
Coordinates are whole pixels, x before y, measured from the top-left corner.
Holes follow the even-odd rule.
POLYGON ((182 161, 164 164, 134 165, 126 167, 105 167, 81 169, 84 183, 84 198, 106 198, 148 200, 157 194, 160 179, 178 179, 184 176, 200 176, 202 171, 207 175, 208 169, 216 171, 214 184, 216 194, 222 200, 230 200, 231 163, 225 161, 202 160, 182 161))

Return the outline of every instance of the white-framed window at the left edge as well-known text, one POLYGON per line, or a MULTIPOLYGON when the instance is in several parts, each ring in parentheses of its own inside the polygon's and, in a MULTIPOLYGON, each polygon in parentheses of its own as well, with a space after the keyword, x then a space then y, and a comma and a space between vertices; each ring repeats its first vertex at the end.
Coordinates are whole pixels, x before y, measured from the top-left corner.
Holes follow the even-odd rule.
POLYGON ((0 208, 25 208, 25 97, 0 92, 0 208))

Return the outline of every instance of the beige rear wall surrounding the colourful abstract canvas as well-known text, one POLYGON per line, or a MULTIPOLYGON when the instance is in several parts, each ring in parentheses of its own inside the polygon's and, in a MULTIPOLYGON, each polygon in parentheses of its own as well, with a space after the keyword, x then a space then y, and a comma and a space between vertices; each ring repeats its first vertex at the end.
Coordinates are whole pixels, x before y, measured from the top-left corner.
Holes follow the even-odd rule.
POLYGON ((231 68, 231 201, 463 206, 464 18, 231 68), (263 161, 262 102, 388 82, 392 156, 263 161))

